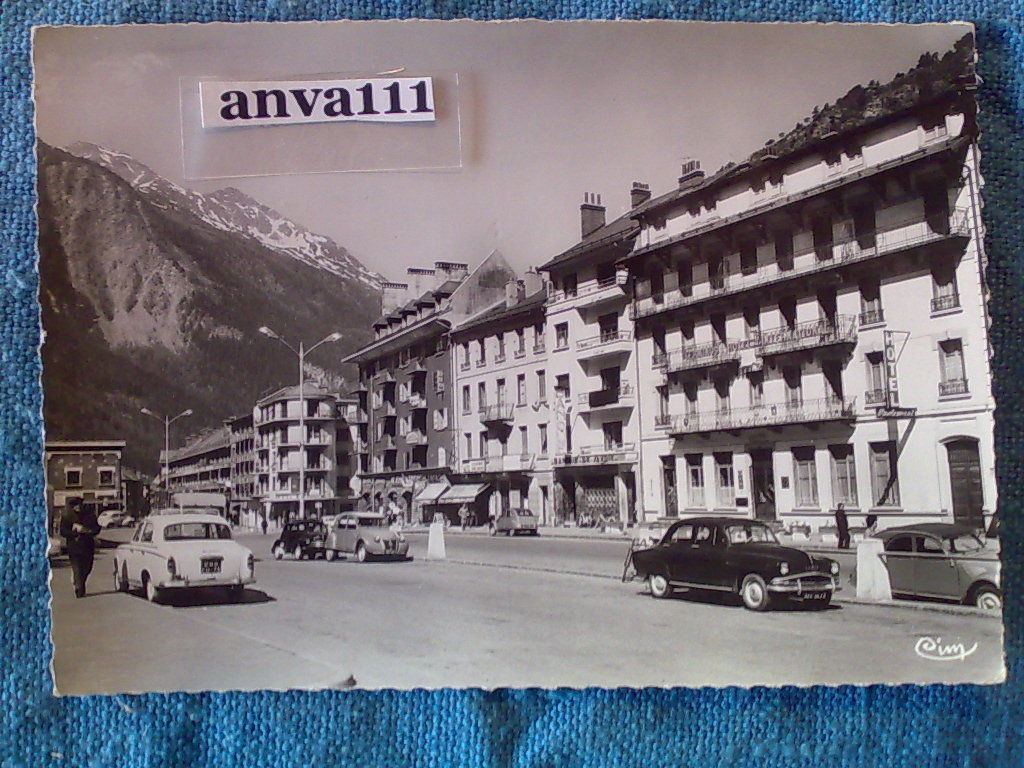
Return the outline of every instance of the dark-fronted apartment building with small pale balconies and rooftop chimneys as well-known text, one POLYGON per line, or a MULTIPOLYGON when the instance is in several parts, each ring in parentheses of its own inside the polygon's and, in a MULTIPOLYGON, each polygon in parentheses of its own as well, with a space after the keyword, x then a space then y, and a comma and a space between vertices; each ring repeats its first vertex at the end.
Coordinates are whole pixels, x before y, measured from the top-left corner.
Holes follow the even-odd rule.
MULTIPOLYGON (((366 505, 421 519, 452 485, 459 458, 449 332, 502 298, 514 276, 496 251, 472 272, 438 261, 409 269, 404 283, 384 284, 374 340, 343 360, 359 372, 355 444, 366 505)), ((472 490, 469 502, 482 493, 472 490)))

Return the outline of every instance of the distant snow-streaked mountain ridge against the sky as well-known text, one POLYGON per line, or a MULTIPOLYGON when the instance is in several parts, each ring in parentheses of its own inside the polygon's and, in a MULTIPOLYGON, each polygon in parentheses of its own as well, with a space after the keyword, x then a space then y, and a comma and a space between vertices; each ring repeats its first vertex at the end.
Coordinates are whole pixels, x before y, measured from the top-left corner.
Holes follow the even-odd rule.
POLYGON ((382 278, 330 238, 305 229, 240 189, 227 186, 208 195, 178 186, 130 155, 79 141, 68 154, 90 160, 123 178, 154 206, 190 213, 225 232, 251 238, 270 250, 377 290, 382 278))

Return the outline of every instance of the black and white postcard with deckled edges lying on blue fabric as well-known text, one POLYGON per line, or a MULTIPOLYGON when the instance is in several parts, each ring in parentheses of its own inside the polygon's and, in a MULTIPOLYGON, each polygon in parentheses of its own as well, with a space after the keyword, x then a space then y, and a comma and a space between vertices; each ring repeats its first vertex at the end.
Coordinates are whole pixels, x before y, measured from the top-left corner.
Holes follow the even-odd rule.
POLYGON ((1002 682, 984 55, 37 28, 55 691, 1002 682))

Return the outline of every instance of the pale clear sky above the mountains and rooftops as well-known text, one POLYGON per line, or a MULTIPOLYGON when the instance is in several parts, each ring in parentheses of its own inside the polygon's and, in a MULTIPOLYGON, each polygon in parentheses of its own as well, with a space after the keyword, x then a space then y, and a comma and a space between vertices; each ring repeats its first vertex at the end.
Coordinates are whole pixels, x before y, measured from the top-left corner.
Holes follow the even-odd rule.
MULTIPOLYGON (((905 72, 969 30, 673 22, 49 28, 35 41, 37 129, 56 146, 89 141, 127 153, 199 191, 236 186, 389 280, 435 261, 474 265, 495 249, 524 270, 579 240, 584 193, 602 196, 610 220, 628 209, 634 181, 668 191, 687 158, 714 172, 815 105, 905 72), (459 74, 461 169, 184 179, 180 79, 397 68, 459 74)), ((350 125, 291 135, 344 142, 350 125)), ((295 129, 256 130, 272 152, 280 132, 295 129)), ((253 151, 243 143, 240 163, 253 151)), ((229 140, 222 146, 231 152, 229 140)))

